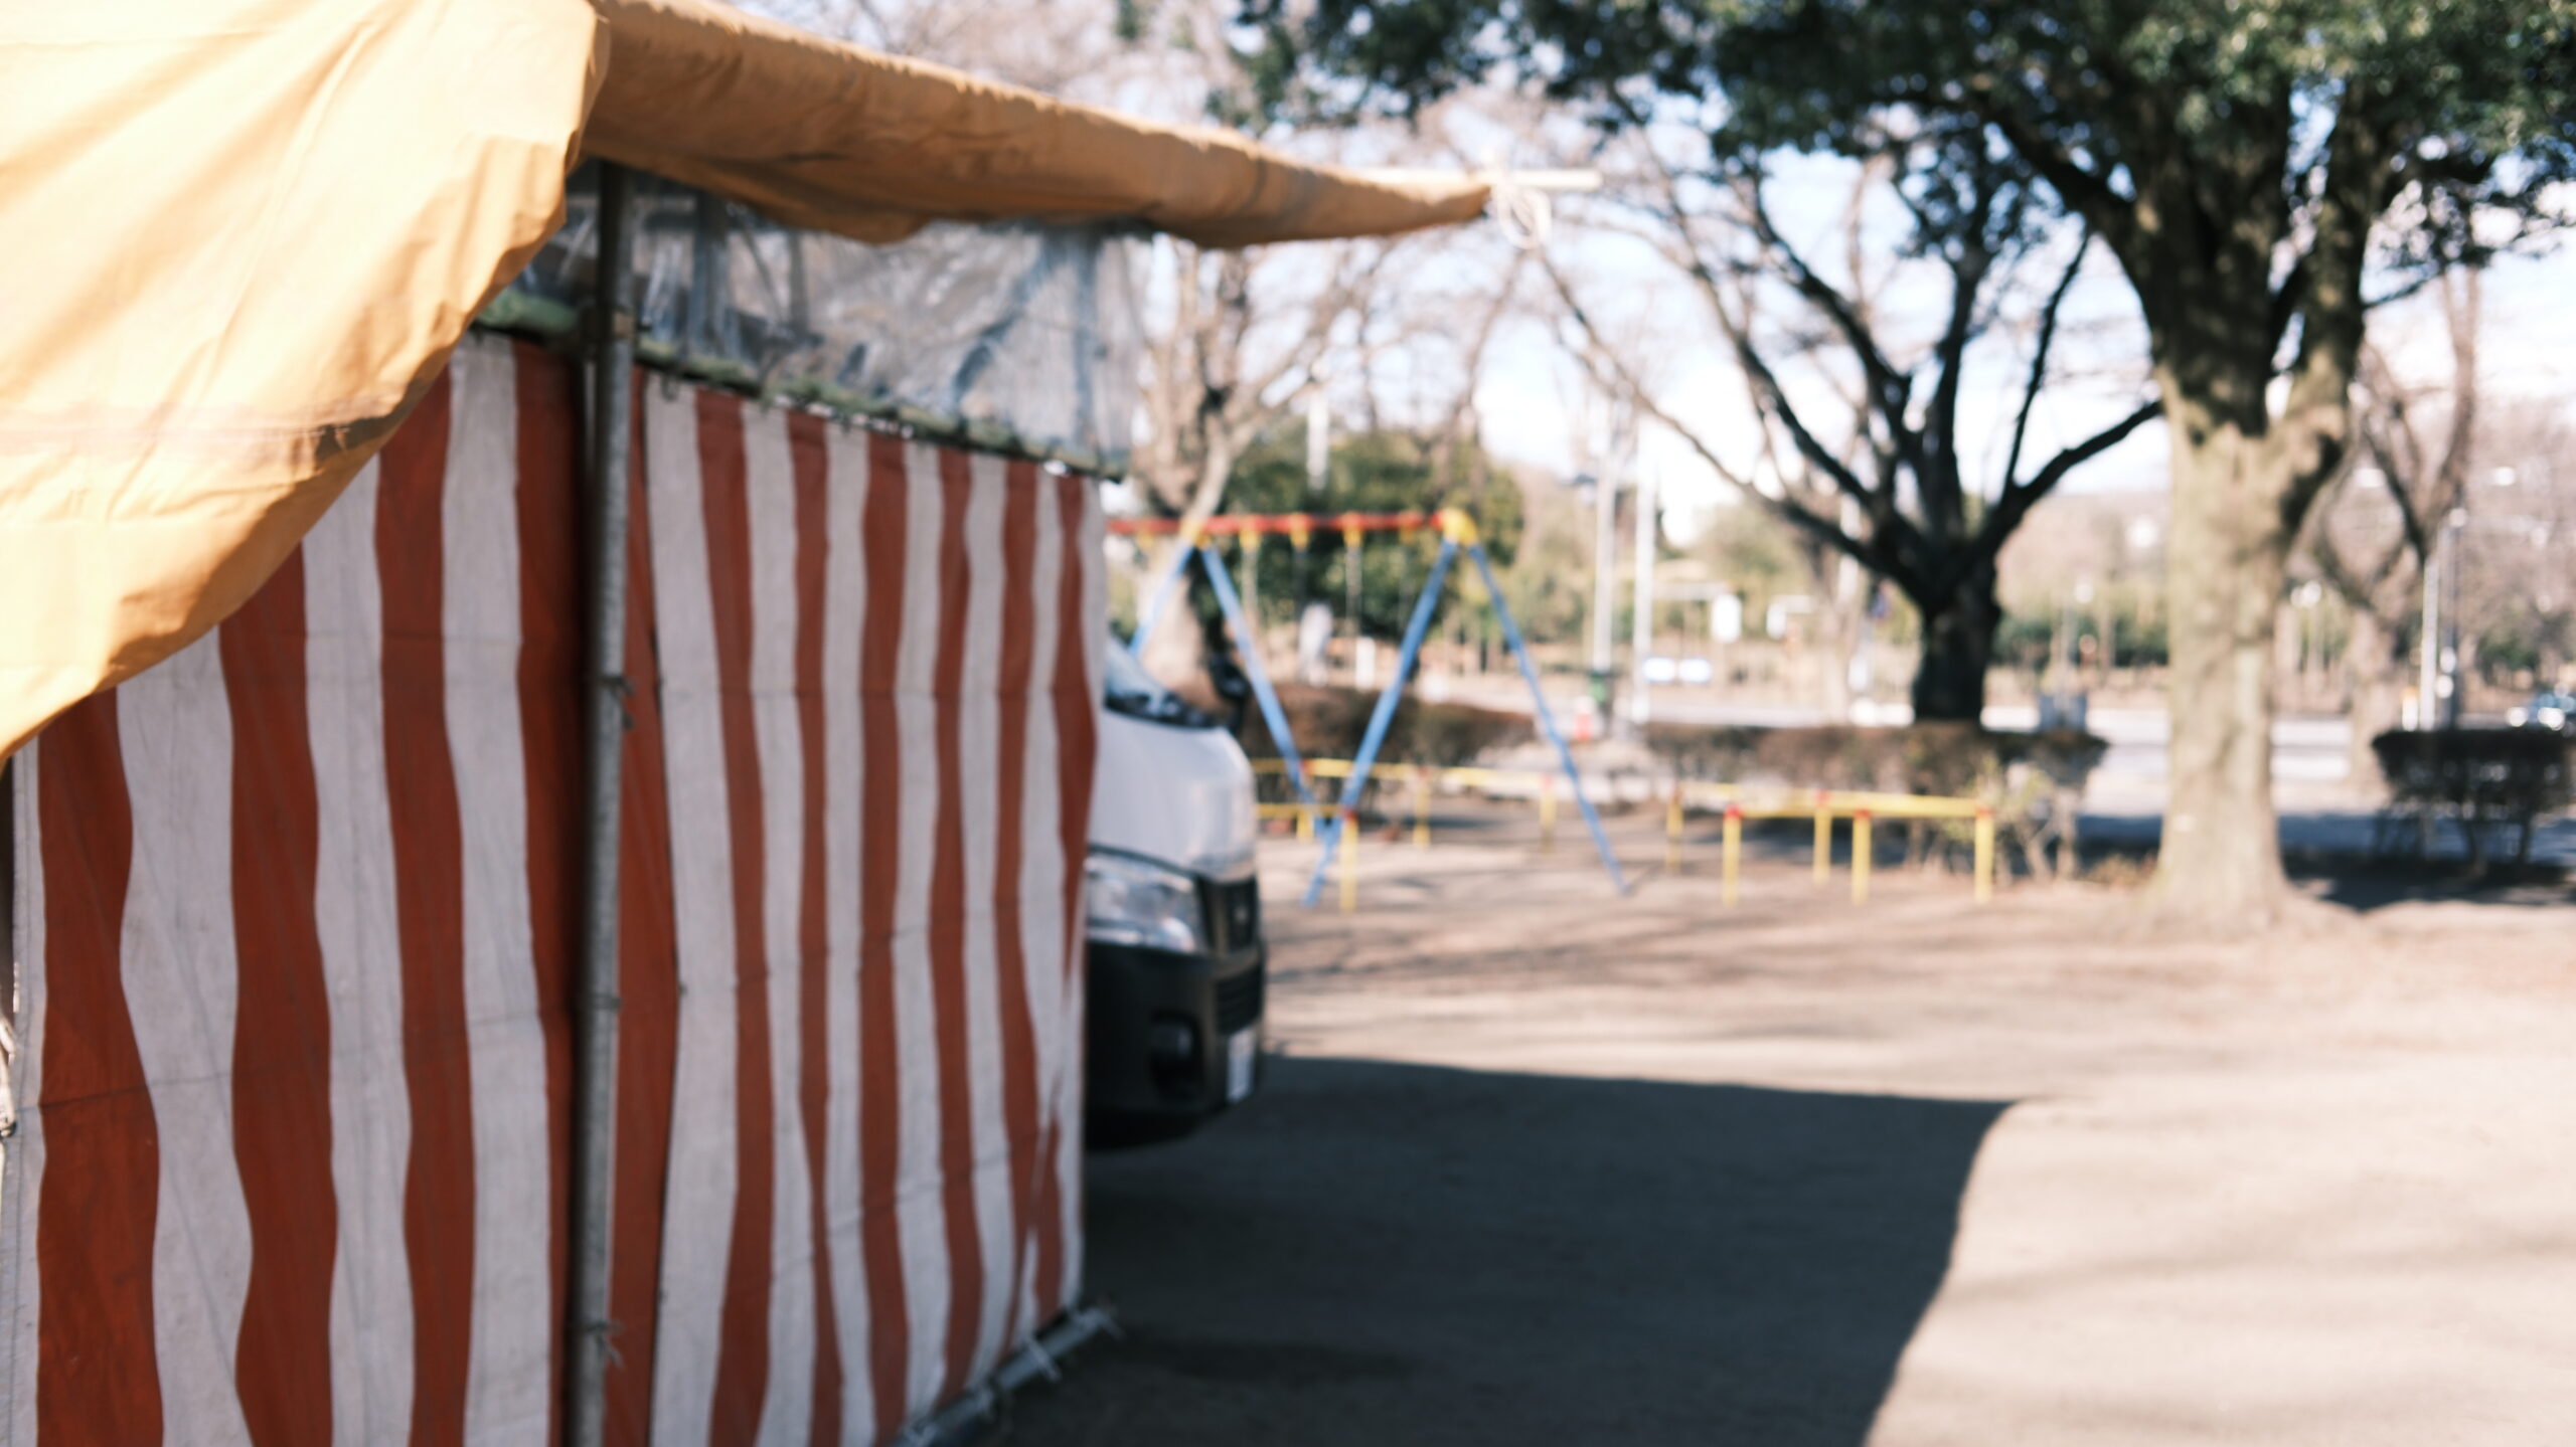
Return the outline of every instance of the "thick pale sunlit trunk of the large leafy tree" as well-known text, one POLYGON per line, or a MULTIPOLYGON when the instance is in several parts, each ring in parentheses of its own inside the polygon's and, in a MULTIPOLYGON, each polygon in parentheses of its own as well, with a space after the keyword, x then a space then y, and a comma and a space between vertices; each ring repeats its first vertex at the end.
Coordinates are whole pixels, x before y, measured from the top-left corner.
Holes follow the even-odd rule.
POLYGON ((2174 427, 2172 744, 2154 909, 2218 932, 2262 929, 2290 896, 2272 814, 2285 474, 2280 451, 2239 427, 2174 427))

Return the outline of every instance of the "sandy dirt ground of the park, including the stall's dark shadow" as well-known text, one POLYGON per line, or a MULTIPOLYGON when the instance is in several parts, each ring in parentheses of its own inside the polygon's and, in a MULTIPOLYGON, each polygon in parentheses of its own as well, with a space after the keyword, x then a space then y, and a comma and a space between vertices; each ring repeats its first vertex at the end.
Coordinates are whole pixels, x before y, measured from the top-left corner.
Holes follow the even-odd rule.
POLYGON ((2576 1442, 2568 891, 2166 945, 1566 845, 1270 847, 1262 1094, 1092 1161, 1126 1339, 994 1442, 2576 1442))

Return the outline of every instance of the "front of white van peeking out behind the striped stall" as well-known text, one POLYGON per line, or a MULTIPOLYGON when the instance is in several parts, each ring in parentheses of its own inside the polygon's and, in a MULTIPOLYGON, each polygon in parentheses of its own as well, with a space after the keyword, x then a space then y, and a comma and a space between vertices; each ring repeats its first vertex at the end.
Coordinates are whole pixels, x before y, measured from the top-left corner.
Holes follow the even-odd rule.
POLYGON ((1084 888, 1095 1143, 1170 1141, 1252 1094, 1257 842, 1244 749, 1113 641, 1084 888))

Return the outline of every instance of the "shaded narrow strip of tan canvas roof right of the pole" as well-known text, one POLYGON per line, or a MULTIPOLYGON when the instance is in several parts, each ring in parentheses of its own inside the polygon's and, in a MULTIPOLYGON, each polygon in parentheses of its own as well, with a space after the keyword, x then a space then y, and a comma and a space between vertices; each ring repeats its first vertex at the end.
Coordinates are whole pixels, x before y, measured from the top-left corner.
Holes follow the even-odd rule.
POLYGON ((1234 247, 1484 211, 1471 178, 1391 180, 894 59, 708 0, 600 0, 585 149, 863 242, 930 219, 1133 219, 1234 247))

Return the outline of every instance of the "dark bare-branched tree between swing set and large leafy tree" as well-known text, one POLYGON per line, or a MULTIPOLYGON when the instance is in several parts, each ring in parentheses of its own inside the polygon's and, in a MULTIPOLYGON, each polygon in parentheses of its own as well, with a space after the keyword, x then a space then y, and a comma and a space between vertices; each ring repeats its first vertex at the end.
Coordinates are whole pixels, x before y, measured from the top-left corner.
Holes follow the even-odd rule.
POLYGON ((1685 175, 1643 126, 1638 134, 1646 136, 1636 147, 1641 185, 1620 198, 1636 221, 1620 229, 1651 245, 1698 291, 1759 420, 1757 456, 1721 445, 1703 407, 1643 386, 1566 273, 1551 268, 1587 355, 1808 546, 1847 556, 1901 590, 1922 615, 1917 718, 1973 721, 1986 703, 2002 623, 1996 556, 2004 541, 2069 474, 2161 409, 2154 399, 2138 402, 2025 471, 2030 422, 2056 378, 2061 314, 2089 237, 2066 247, 2027 319, 2030 360, 2002 476, 1991 489, 1971 487, 1960 435, 1971 348, 1996 332, 2017 270, 2035 263, 2048 239, 2030 178, 1981 149, 1973 134, 1893 142, 1862 173, 1844 219, 1847 275, 1837 281, 1775 221, 1757 165, 1685 175), (1914 355, 1899 350, 1896 327, 1873 306, 1862 270, 1862 198, 1873 185, 1904 206, 1911 250, 1947 288, 1940 330, 1914 355), (1772 314, 1785 319, 1772 322, 1772 314), (1793 366, 1819 386, 1793 384, 1793 366))

